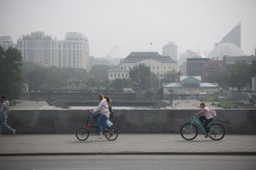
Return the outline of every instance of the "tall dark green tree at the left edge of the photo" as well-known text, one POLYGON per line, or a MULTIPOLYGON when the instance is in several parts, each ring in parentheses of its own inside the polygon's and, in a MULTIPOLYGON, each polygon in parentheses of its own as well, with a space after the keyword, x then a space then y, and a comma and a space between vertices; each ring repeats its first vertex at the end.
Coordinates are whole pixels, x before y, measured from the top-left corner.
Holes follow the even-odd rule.
POLYGON ((21 62, 22 56, 19 50, 8 48, 4 51, 0 47, 0 94, 7 95, 9 99, 17 98, 22 89, 21 62))

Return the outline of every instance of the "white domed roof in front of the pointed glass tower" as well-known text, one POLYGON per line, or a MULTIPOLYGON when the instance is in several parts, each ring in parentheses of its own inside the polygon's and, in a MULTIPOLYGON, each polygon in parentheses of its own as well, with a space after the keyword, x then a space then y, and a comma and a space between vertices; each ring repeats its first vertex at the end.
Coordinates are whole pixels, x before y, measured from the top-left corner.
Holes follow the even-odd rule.
POLYGON ((243 50, 231 43, 223 43, 219 44, 217 47, 213 48, 213 50, 209 53, 208 57, 218 57, 222 59, 223 56, 243 56, 243 50))

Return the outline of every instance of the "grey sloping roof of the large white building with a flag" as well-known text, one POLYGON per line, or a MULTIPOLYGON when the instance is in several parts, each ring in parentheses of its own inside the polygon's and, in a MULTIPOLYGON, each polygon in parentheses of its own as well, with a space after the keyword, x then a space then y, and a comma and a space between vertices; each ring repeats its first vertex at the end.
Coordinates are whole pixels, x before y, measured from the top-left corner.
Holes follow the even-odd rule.
POLYGON ((157 52, 132 52, 125 59, 121 60, 121 63, 137 63, 146 59, 152 59, 163 63, 176 63, 171 57, 161 56, 157 52))

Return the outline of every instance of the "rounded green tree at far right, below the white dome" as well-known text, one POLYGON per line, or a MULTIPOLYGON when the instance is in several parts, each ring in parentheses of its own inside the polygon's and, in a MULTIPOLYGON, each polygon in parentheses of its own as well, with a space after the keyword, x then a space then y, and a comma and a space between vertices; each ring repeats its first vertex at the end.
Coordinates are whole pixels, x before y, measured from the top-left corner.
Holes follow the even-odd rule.
POLYGON ((245 62, 236 62, 227 71, 227 86, 240 90, 246 84, 251 84, 250 66, 245 62))

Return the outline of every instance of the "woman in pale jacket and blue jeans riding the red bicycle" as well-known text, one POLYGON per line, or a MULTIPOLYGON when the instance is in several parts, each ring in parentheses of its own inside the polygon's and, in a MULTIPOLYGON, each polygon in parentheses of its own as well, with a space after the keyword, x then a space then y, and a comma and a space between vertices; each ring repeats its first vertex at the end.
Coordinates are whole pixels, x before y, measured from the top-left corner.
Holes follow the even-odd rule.
POLYGON ((111 104, 111 98, 108 96, 103 96, 102 94, 99 95, 100 104, 90 113, 95 113, 93 115, 93 119, 96 122, 97 129, 99 131, 98 138, 103 138, 102 134, 102 125, 106 125, 109 119, 109 108, 108 105, 111 104), (100 111, 100 112, 98 112, 100 111))

